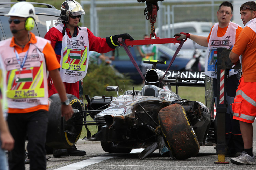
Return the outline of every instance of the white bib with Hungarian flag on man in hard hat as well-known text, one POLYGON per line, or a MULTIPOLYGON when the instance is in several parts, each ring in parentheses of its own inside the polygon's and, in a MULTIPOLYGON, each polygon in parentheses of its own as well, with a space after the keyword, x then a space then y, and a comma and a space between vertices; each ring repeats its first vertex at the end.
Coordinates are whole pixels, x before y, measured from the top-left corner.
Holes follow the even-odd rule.
MULTIPOLYGON (((30 43, 22 70, 18 63, 11 39, 0 42, 0 57, 6 69, 7 100, 9 108, 26 109, 48 105, 48 81, 43 51, 48 40, 37 37, 37 43, 30 43)), ((17 54, 22 63, 26 52, 17 54)))

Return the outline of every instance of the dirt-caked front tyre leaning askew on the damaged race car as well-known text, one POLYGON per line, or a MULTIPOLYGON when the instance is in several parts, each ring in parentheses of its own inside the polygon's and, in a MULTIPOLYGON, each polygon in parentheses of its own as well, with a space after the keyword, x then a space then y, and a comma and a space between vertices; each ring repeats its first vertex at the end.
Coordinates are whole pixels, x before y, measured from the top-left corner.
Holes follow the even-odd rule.
POLYGON ((198 139, 181 105, 172 104, 162 108, 158 121, 167 145, 176 159, 184 160, 198 154, 198 139))

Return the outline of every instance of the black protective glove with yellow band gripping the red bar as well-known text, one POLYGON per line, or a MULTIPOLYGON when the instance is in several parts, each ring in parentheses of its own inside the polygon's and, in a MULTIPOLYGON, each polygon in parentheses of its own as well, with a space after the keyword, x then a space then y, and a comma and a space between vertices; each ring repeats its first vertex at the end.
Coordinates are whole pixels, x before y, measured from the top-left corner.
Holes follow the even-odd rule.
POLYGON ((119 42, 121 42, 122 39, 134 40, 129 34, 124 33, 124 34, 106 37, 106 42, 108 43, 109 47, 116 48, 116 46, 120 45, 119 42))

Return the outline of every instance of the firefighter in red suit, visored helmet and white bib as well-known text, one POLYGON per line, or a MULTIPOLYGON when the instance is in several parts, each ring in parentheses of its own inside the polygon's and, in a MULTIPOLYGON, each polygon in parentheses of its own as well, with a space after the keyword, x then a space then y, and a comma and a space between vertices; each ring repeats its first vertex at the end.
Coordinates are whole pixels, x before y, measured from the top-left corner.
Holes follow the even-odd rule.
MULTIPOLYGON (((78 26, 81 15, 85 15, 82 6, 75 0, 66 0, 61 5, 61 13, 55 26, 45 35, 45 39, 51 41, 61 65, 60 75, 66 92, 77 98, 79 98, 79 81, 87 72, 89 51, 106 53, 119 46, 122 39, 133 40, 127 33, 106 38, 96 37, 88 28, 78 26)), ((56 92, 49 77, 49 96, 56 92)), ((53 152, 54 157, 68 155, 82 156, 86 155, 86 152, 78 150, 75 146, 71 149, 55 149, 53 152)))

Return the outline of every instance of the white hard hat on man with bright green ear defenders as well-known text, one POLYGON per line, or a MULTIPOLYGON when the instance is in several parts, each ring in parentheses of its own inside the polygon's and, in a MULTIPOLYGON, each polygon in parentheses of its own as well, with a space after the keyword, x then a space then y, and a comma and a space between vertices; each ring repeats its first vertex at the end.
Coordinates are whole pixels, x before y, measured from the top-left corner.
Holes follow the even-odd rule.
POLYGON ((35 19, 35 8, 29 2, 18 2, 11 7, 9 13, 5 14, 5 16, 17 16, 23 18, 32 17, 35 19))

